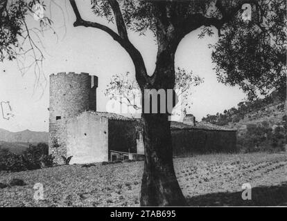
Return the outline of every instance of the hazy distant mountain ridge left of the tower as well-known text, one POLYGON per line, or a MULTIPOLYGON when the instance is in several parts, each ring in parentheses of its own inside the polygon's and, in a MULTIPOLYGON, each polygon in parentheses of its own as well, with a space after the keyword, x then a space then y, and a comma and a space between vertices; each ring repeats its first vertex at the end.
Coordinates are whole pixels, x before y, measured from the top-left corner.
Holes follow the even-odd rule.
POLYGON ((48 132, 37 132, 37 131, 19 131, 10 132, 4 129, 0 129, 0 141, 2 142, 18 142, 18 143, 47 143, 49 140, 48 132))

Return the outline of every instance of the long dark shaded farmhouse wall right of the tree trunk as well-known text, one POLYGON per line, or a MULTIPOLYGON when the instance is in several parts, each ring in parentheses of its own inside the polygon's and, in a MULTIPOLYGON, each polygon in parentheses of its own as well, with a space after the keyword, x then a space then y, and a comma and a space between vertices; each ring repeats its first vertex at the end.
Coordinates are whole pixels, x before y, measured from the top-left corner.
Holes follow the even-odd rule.
POLYGON ((173 155, 236 152, 236 131, 172 129, 173 155))

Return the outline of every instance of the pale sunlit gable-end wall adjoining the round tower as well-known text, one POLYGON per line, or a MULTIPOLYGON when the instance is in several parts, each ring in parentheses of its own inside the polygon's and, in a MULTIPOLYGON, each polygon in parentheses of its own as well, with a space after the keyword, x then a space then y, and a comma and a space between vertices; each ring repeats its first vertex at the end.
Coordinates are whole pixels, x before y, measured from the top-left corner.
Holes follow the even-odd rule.
POLYGON ((70 164, 108 160, 108 119, 92 111, 67 121, 67 156, 70 164))

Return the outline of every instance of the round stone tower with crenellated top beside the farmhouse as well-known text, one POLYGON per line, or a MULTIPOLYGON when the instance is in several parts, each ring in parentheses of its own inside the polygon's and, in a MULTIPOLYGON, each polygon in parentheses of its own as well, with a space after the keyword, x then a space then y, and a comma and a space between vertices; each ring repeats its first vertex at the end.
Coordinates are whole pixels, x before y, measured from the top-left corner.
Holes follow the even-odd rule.
POLYGON ((49 154, 55 162, 67 157, 67 120, 84 111, 96 111, 98 77, 88 73, 50 75, 49 154))

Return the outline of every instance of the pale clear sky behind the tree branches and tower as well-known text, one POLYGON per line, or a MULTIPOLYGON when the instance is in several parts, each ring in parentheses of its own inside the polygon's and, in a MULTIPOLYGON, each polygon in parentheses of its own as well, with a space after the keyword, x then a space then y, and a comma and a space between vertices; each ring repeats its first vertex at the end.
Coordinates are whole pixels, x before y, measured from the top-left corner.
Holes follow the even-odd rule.
MULTIPOLYGON (((76 1, 83 19, 97 21, 116 31, 113 23, 107 23, 93 15, 89 0, 76 1)), ((53 31, 44 32, 40 37, 44 48, 43 71, 46 77, 46 88, 34 87, 35 75, 29 70, 21 75, 16 61, 0 63, 0 102, 10 102, 13 117, 3 119, 0 115, 0 128, 17 132, 26 129, 31 131, 49 131, 49 75, 60 72, 89 73, 98 76, 97 111, 107 111, 108 98, 104 91, 112 75, 130 72, 134 76, 134 66, 129 55, 110 35, 96 28, 73 27, 75 15, 69 1, 46 1, 45 15, 53 20, 53 31)), ((32 15, 28 15, 27 24, 39 27, 32 15)), ((192 70, 195 75, 205 79, 204 83, 192 88, 188 111, 200 121, 207 114, 222 113, 225 109, 237 106, 245 99, 238 87, 229 87, 216 79, 211 62, 209 44, 218 40, 214 36, 198 39, 200 29, 186 35, 180 42, 175 54, 175 66, 192 70)), ((148 73, 155 69, 157 45, 153 35, 145 36, 129 32, 130 41, 141 52, 148 73)), ((5 105, 4 105, 5 106, 5 105)), ((7 107, 5 107, 7 108, 7 107)), ((4 110, 5 111, 5 110, 4 110)))

